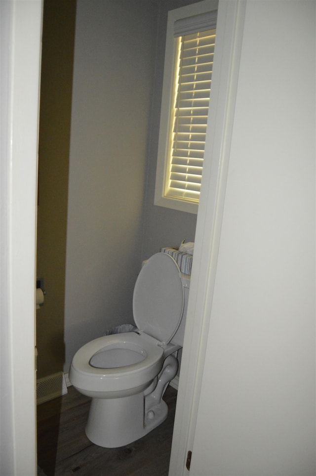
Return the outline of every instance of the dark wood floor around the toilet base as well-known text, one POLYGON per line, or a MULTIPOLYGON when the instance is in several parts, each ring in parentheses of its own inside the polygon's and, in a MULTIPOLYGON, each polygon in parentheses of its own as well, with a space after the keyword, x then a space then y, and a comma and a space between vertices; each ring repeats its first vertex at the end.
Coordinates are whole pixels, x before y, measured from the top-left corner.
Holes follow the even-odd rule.
POLYGON ((38 465, 47 476, 167 476, 177 391, 168 387, 167 420, 120 448, 102 448, 84 433, 90 399, 74 387, 38 405, 38 465))

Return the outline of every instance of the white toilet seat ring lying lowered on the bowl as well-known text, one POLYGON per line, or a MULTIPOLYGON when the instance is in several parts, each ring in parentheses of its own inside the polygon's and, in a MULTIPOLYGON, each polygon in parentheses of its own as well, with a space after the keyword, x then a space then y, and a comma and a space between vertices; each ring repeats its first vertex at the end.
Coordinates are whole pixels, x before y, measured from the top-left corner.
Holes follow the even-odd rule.
POLYGON ((137 385, 150 382, 158 374, 163 362, 163 349, 157 340, 142 332, 127 332, 100 337, 82 346, 75 354, 70 377, 72 384, 82 389, 82 381, 86 389, 107 392, 132 389, 137 385), (91 365, 91 359, 100 353, 112 349, 126 349, 138 352, 142 360, 131 365, 120 367, 99 368, 91 365), (137 379, 135 375, 137 374, 137 379), (88 381, 88 382, 87 382, 88 381))

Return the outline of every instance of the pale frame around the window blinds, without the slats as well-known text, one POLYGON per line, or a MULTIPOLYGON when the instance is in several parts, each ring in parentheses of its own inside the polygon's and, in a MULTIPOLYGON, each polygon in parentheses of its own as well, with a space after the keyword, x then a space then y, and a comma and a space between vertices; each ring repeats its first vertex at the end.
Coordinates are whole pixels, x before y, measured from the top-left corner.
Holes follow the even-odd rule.
MULTIPOLYGON (((217 7, 217 0, 204 0, 177 8, 176 10, 171 10, 168 13, 154 204, 160 207, 193 214, 197 214, 198 201, 165 195, 168 152, 170 142, 172 141, 172 134, 169 133, 169 130, 171 121, 173 121, 172 100, 175 89, 174 78, 178 71, 178 64, 176 61, 178 38, 175 37, 175 23, 179 20, 181 21, 207 12, 214 12, 214 17, 216 18, 217 7)), ((211 28, 214 28, 214 26, 211 28)))

